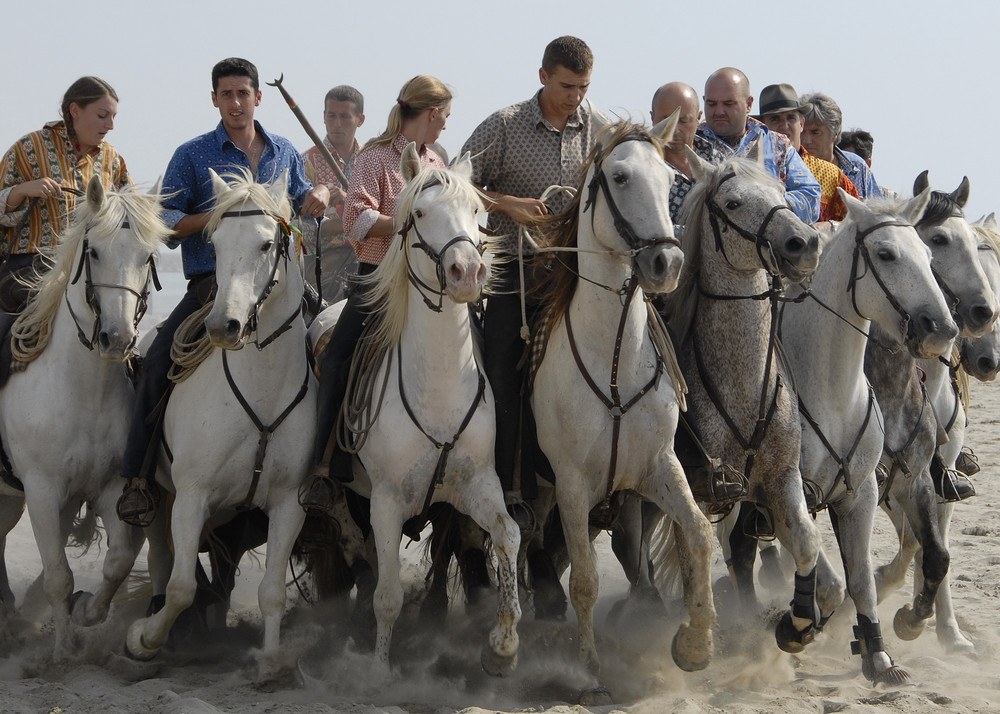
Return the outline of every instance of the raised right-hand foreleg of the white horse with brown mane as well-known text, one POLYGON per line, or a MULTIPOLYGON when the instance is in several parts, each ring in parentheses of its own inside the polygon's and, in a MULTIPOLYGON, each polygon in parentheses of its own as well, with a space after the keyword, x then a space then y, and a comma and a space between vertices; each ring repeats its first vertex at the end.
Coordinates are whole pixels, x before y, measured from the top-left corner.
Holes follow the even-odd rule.
POLYGON ((715 602, 712 597, 712 527, 698 508, 680 462, 672 454, 661 468, 665 480, 654 484, 649 498, 674 521, 674 537, 680 549, 684 604, 689 623, 682 623, 674 636, 674 662, 686 672, 704 669, 712 659, 712 627, 715 602))

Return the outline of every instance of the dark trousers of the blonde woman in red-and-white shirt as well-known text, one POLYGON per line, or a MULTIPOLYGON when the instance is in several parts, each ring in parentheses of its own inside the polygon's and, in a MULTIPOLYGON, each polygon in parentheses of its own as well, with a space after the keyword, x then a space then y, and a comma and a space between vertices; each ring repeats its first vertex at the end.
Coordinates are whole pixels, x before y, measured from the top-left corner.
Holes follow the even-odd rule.
MULTIPOLYGON (((358 275, 375 270, 370 263, 358 263, 358 275)), ((344 311, 330 335, 330 343, 320 360, 319 390, 317 391, 316 444, 314 460, 323 463, 326 445, 337 424, 337 415, 347 395, 347 378, 351 370, 354 348, 361 338, 369 308, 362 304, 364 290, 356 288, 347 298, 344 311)), ((334 437, 336 438, 336 437, 334 437)), ((350 459, 341 449, 335 449, 330 473, 345 481, 352 478, 350 459), (346 468, 345 468, 346 467, 346 468)))

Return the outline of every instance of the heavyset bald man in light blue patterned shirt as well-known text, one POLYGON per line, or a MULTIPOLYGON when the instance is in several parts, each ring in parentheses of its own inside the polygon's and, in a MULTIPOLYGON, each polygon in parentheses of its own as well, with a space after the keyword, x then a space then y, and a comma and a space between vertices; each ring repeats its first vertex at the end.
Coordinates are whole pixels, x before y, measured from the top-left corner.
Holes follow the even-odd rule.
POLYGON ((705 121, 702 137, 723 156, 746 156, 755 143, 764 155, 764 167, 785 185, 785 200, 806 223, 819 220, 819 183, 784 134, 770 131, 750 116, 750 81, 735 67, 716 70, 705 82, 705 121))

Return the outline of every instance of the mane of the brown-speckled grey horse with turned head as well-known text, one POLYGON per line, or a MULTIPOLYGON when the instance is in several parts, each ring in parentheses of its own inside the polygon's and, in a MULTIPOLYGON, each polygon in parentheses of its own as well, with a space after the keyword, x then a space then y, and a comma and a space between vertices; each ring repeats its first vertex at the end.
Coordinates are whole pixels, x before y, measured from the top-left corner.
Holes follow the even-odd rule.
POLYGON ((701 270, 701 224, 705 213, 705 202, 730 173, 747 177, 760 184, 778 185, 778 180, 755 161, 733 156, 721 164, 703 162, 710 171, 705 180, 695 181, 691 191, 684 197, 684 204, 677 216, 677 223, 683 226, 679 238, 684 252, 684 267, 681 269, 677 289, 664 296, 665 314, 677 335, 677 341, 687 341, 698 311, 698 272, 701 270))

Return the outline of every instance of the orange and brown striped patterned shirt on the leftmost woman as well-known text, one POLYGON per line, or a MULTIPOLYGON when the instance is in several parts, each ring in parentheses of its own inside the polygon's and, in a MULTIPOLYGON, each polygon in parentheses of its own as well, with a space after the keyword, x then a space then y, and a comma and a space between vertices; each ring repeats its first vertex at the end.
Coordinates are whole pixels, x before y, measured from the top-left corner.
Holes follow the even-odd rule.
POLYGON ((7 197, 15 186, 40 178, 51 178, 63 186, 80 191, 94 176, 101 177, 107 191, 132 183, 125 160, 108 142, 102 142, 87 154, 77 156, 66 123, 54 121, 40 131, 18 139, 0 160, 0 243, 9 254, 37 253, 52 248, 68 225, 78 198, 68 191, 44 201, 25 199, 13 211, 6 211, 7 197), (22 223, 25 211, 31 209, 22 223), (20 226, 18 234, 14 231, 20 226))

